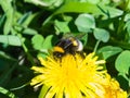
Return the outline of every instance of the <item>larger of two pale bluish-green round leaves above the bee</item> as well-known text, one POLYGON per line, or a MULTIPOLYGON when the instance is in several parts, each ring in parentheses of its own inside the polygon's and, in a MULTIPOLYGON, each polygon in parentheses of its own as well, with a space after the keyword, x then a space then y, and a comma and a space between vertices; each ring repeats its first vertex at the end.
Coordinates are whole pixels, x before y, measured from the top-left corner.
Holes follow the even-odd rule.
POLYGON ((94 17, 90 14, 80 14, 76 19, 75 24, 78 30, 83 33, 91 32, 91 29, 95 28, 94 17))

